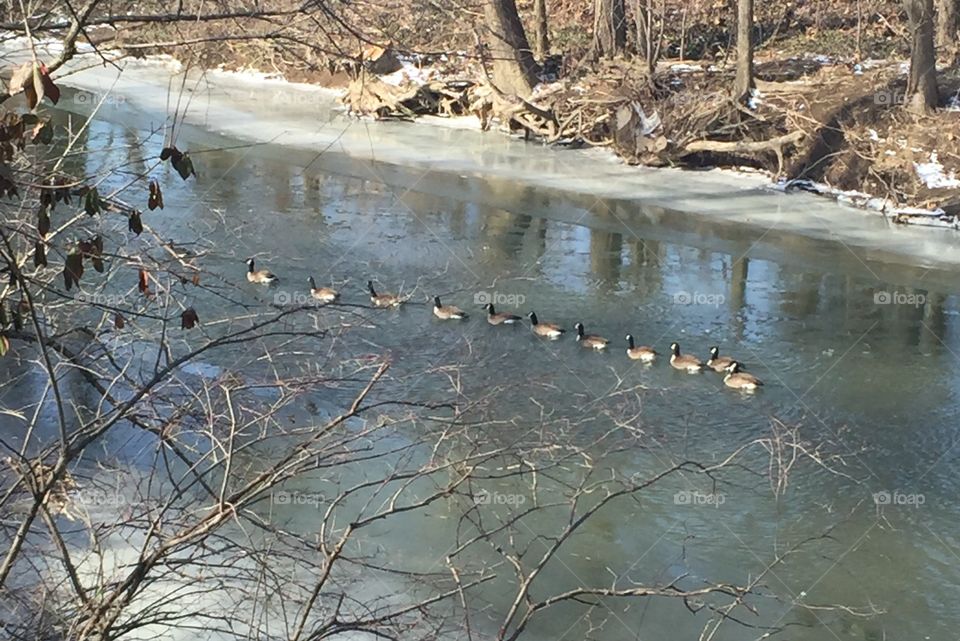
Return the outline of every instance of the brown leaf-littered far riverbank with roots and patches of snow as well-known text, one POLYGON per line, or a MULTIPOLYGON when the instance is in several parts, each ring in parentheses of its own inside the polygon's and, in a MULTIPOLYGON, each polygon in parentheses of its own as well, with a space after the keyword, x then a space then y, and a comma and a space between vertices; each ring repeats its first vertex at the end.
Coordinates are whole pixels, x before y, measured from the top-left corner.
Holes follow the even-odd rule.
MULTIPOLYGON (((590 9, 549 0, 549 20, 534 25, 532 4, 518 7, 526 32, 540 34, 539 84, 525 101, 493 89, 483 63, 490 61, 489 43, 473 19, 441 6, 344 7, 319 38, 300 24, 307 14, 279 5, 270 10, 279 13, 210 14, 193 22, 115 16, 93 21, 80 51, 103 64, 176 59, 209 77, 226 69, 257 81, 308 83, 341 92, 351 114, 377 120, 600 146, 629 165, 746 170, 766 176, 774 189, 810 191, 894 223, 960 228, 955 43, 938 31, 940 108, 907 110, 910 39, 902 3, 756 7, 756 89, 743 104, 730 99, 736 21, 726 3, 660 7, 655 69, 644 62, 650 42, 641 42, 639 23, 620 55, 597 56, 590 9), (229 35, 238 28, 242 34, 229 35)), ((64 37, 54 24, 34 36, 64 37)), ((16 35, 23 32, 6 28, 6 49, 25 46, 16 35)))

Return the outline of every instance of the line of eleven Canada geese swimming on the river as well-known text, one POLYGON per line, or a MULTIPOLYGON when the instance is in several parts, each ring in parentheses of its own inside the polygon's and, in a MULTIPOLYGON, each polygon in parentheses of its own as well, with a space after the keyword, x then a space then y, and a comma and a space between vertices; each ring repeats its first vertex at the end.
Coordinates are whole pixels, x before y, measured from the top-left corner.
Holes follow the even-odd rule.
MULTIPOLYGON (((259 285, 271 285, 278 281, 278 278, 269 270, 255 268, 254 259, 247 260, 247 280, 259 285)), ((310 296, 321 303, 333 303, 340 298, 340 293, 329 287, 317 287, 313 276, 307 281, 310 283, 310 296)), ((377 292, 373 287, 373 281, 367 281, 367 290, 370 293, 370 303, 379 309, 389 309, 400 307, 408 299, 396 294, 386 292, 377 292)), ((498 312, 494 309, 493 303, 487 303, 483 306, 487 312, 487 322, 491 325, 515 325, 523 319, 516 314, 498 312)), ((439 296, 433 297, 433 315, 440 320, 466 320, 470 317, 455 305, 444 305, 439 296)), ((541 321, 535 312, 527 314, 530 319, 531 331, 543 338, 557 340, 563 336, 567 330, 557 323, 546 323, 541 321)), ((577 341, 584 347, 604 350, 610 345, 610 341, 602 336, 587 334, 584 332, 583 323, 574 325, 577 332, 577 341)), ((646 345, 636 345, 632 334, 627 334, 627 357, 640 361, 645 364, 651 364, 657 359, 657 352, 646 345)), ((742 364, 729 356, 720 356, 719 347, 710 348, 710 358, 706 362, 701 361, 691 354, 681 354, 678 343, 670 344, 670 366, 676 370, 697 374, 705 369, 714 372, 724 373, 723 383, 727 387, 753 392, 763 385, 763 382, 753 374, 741 371, 742 364)))

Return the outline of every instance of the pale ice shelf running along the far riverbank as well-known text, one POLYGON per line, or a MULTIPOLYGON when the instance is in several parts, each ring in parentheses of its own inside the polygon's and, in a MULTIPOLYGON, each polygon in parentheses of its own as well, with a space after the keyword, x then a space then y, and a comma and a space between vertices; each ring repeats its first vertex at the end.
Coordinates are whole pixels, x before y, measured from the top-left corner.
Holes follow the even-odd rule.
MULTIPOLYGON (((89 113, 99 105, 109 112, 101 114, 105 117, 140 118, 145 125, 159 120, 166 123, 168 136, 176 112, 178 122, 241 140, 412 167, 424 174, 483 176, 577 194, 582 205, 551 215, 570 221, 586 214, 603 215, 627 233, 624 216, 594 206, 593 199, 618 199, 628 209, 661 208, 746 225, 764 234, 839 241, 870 259, 920 267, 960 266, 960 252, 947 237, 931 237, 929 231, 896 225, 888 217, 795 193, 788 185, 771 184, 758 172, 637 167, 609 150, 524 143, 470 127, 416 127, 349 118, 339 104, 339 92, 250 73, 197 70, 184 75, 182 65, 169 57, 128 59, 119 69, 90 66, 88 60, 71 62, 58 76, 62 85, 80 90, 67 98, 66 107, 89 113)), ((201 150, 189 140, 178 139, 177 144, 199 158, 202 177, 202 155, 195 153, 201 150)))

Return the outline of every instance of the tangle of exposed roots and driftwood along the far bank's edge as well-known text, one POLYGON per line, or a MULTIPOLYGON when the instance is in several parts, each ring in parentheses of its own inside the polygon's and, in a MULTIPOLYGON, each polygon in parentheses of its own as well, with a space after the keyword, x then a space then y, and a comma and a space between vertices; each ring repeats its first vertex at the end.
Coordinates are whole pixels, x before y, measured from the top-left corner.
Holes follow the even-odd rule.
MULTIPOLYGON (((486 74, 485 74, 486 76, 486 74)), ((489 76, 479 82, 432 80, 419 84, 412 80, 394 84, 361 70, 350 83, 343 102, 351 113, 376 118, 414 119, 422 115, 462 116, 473 114, 483 130, 499 122, 514 132, 523 132, 546 143, 559 140, 583 141, 592 145, 612 145, 627 162, 648 166, 685 165, 702 162, 697 155, 727 155, 760 158, 774 154, 778 173, 784 167, 785 150, 802 142, 802 130, 761 140, 710 140, 709 132, 729 137, 724 126, 724 110, 729 100, 723 96, 696 102, 657 99, 650 94, 624 92, 608 99, 585 98, 566 83, 547 86, 529 98, 507 94, 489 76)), ((740 127, 747 135, 761 138, 775 131, 763 126, 740 127)), ((772 169, 772 167, 770 167, 772 169)))

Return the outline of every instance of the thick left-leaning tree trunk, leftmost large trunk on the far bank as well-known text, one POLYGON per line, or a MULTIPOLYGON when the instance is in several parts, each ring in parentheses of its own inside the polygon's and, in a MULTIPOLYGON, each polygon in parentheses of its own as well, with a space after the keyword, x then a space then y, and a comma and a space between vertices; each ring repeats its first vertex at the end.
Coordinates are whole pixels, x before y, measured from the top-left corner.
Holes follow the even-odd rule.
POLYGON ((527 98, 537 84, 537 63, 514 0, 485 0, 484 16, 490 32, 493 83, 504 93, 527 98))

